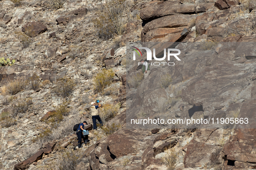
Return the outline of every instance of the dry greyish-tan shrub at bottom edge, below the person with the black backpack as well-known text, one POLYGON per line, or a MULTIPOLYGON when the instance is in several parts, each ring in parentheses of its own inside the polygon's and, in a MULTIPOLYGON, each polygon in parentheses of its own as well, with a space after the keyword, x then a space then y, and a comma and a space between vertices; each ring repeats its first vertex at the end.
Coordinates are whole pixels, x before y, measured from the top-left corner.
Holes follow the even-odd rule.
POLYGON ((80 150, 66 151, 58 154, 58 158, 51 165, 54 170, 77 170, 78 165, 83 159, 83 154, 80 150))

